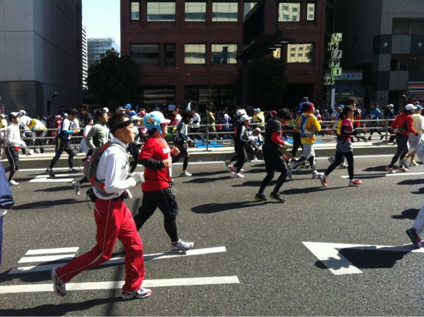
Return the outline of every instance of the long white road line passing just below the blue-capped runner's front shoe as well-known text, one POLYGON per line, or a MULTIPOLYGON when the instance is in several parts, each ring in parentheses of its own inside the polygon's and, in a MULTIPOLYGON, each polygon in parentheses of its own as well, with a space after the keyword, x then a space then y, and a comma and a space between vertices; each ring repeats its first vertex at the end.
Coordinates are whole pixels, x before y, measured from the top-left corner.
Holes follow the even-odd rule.
MULTIPOLYGON (((170 257, 185 257, 189 255, 202 255, 202 254, 220 253, 220 252, 226 252, 226 247, 217 246, 215 248, 194 249, 194 250, 189 250, 189 251, 185 251, 181 253, 172 253, 172 252, 155 253, 150 255, 144 255, 144 261, 150 261, 151 259, 168 259, 170 257)), ((120 263, 124 263, 124 260, 125 260, 124 257, 114 257, 112 259, 109 259, 109 261, 102 263, 101 265, 120 264, 120 263)), ((50 260, 50 261, 53 261, 53 260, 50 260)), ((35 261, 31 261, 31 262, 35 262, 35 261)), ((19 261, 19 263, 21 263, 21 261, 19 261)), ((37 265, 37 266, 21 266, 18 268, 12 268, 12 270, 10 270, 8 274, 21 274, 21 273, 49 271, 52 268, 64 266, 65 264, 66 263, 55 263, 55 264, 45 264, 45 265, 37 265)))

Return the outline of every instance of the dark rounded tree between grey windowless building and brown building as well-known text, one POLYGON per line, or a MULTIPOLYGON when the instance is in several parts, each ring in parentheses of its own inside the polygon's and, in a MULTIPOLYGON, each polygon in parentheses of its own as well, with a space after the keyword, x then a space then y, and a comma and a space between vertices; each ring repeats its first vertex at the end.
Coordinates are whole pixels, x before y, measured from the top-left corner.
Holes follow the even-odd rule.
POLYGON ((137 62, 110 49, 88 68, 88 89, 107 107, 138 103, 140 73, 137 62))

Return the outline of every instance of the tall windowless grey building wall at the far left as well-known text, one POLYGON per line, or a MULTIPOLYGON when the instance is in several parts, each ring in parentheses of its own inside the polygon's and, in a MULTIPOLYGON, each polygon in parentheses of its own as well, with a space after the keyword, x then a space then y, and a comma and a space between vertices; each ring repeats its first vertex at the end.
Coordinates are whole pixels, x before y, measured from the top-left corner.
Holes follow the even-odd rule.
POLYGON ((5 112, 55 114, 81 103, 81 0, 2 0, 0 16, 5 112))

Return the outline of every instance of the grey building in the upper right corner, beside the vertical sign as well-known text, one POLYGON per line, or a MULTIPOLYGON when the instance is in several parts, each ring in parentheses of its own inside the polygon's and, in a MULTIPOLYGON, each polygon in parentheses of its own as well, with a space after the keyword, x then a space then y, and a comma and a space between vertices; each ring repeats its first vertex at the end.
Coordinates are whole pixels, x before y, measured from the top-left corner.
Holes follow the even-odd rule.
POLYGON ((363 72, 365 105, 424 101, 424 1, 336 0, 343 72, 363 72))

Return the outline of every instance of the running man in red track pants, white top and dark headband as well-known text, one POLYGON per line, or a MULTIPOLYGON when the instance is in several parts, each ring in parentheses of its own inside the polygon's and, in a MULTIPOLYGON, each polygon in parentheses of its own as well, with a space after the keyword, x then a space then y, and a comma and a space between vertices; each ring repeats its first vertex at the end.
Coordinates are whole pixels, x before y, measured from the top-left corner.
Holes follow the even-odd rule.
POLYGON ((121 240, 126 252, 122 299, 143 299, 151 294, 151 290, 142 288, 144 279, 142 240, 135 227, 133 216, 123 201, 123 195, 128 188, 144 181, 141 173, 133 173, 127 178, 129 162, 126 149, 130 142, 134 142, 133 123, 125 114, 114 114, 109 119, 109 127, 114 135, 112 145, 102 153, 96 168, 96 179, 104 183, 104 189, 103 186, 93 187, 96 194, 94 205, 96 246, 90 252, 72 259, 65 266, 51 270, 53 289, 59 296, 66 295, 65 284, 72 277, 109 260, 116 239, 121 240))

